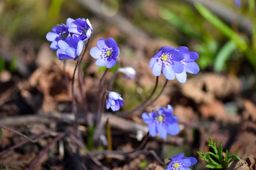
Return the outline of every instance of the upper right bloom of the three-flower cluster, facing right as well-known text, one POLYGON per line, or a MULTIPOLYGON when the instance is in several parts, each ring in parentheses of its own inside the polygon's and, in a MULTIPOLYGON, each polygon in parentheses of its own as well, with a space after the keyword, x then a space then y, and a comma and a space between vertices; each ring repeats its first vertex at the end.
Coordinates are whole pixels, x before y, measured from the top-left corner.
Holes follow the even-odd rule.
POLYGON ((68 31, 74 33, 79 40, 85 41, 90 38, 93 27, 88 19, 78 18, 70 24, 68 31))

